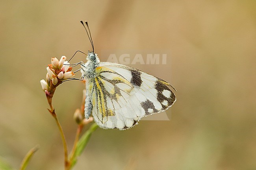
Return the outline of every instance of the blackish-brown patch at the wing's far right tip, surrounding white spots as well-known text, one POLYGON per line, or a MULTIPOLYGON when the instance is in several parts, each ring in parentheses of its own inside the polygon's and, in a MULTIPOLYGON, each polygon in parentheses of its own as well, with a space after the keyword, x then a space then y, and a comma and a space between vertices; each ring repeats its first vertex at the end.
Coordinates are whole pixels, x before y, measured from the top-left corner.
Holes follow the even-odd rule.
POLYGON ((163 109, 166 109, 167 107, 169 107, 170 105, 172 105, 174 103, 174 101, 176 100, 176 96, 171 91, 171 89, 169 89, 169 87, 167 87, 165 84, 161 83, 161 81, 158 80, 156 82, 155 88, 157 90, 157 100, 161 103, 163 109), (164 90, 171 92, 170 98, 167 98, 163 95, 164 90), (167 101, 168 104, 163 105, 163 101, 167 101))

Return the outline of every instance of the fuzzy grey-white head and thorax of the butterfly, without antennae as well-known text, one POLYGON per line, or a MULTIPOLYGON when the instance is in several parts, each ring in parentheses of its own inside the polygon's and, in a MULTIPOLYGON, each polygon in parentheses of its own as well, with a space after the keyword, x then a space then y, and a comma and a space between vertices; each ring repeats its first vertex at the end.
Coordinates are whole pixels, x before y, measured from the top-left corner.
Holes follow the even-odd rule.
POLYGON ((93 52, 88 52, 88 55, 86 57, 87 62, 85 65, 82 65, 82 75, 84 75, 85 79, 91 79, 95 78, 96 72, 95 68, 98 67, 98 64, 100 63, 100 59, 98 58, 98 55, 93 52))

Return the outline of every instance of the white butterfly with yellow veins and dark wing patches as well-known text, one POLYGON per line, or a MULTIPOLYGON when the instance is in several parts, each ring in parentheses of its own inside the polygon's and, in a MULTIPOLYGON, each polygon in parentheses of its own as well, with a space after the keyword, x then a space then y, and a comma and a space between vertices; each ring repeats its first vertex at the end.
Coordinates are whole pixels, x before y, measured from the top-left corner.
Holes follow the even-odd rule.
POLYGON ((92 114, 99 127, 123 130, 174 104, 176 96, 171 90, 174 87, 167 81, 128 65, 100 62, 91 32, 83 26, 93 47, 87 54, 87 62, 80 63, 86 82, 86 119, 92 114))

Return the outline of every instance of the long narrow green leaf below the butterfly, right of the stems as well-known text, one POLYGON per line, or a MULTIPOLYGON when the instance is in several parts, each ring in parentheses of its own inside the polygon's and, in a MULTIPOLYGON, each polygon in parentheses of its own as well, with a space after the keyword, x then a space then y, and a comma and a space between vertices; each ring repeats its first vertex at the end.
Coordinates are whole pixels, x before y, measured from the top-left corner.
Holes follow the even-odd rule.
POLYGON ((97 127, 98 125, 96 123, 92 124, 91 127, 82 135, 80 140, 77 142, 76 150, 74 152, 74 159, 71 163, 72 166, 76 163, 76 157, 81 155, 91 137, 91 134, 97 129, 97 127))

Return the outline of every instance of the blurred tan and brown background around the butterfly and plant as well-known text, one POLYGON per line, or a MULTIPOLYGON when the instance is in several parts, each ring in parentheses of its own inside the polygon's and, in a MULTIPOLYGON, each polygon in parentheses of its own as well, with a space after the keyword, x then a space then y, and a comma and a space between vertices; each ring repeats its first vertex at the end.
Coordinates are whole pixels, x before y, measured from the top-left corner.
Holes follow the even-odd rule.
MULTIPOLYGON (((170 121, 98 128, 74 170, 255 170, 256 1, 1 1, 0 157, 18 168, 63 170, 58 128, 41 89, 51 57, 95 51, 168 51, 166 65, 132 65, 170 82, 170 121)), ((72 63, 85 61, 77 54, 72 63)), ((79 76, 78 76, 79 77, 79 76)), ((72 148, 83 83, 60 85, 53 104, 72 148)))

